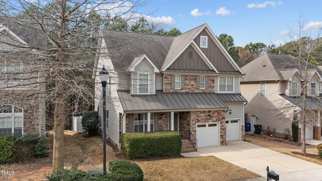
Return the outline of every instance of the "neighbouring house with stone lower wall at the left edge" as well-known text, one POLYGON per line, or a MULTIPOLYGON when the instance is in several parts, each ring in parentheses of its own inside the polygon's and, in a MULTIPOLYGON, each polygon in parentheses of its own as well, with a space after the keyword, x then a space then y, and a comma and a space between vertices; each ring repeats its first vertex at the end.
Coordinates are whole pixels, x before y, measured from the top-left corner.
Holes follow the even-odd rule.
POLYGON ((45 127, 38 49, 46 37, 28 20, 0 17, 0 135, 41 133, 45 127))

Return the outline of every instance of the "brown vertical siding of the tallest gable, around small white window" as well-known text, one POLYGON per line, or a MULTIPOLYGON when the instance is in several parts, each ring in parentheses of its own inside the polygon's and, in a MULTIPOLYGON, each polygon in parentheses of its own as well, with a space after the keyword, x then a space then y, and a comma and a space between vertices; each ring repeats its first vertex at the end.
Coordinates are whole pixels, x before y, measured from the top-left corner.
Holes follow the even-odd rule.
POLYGON ((210 62, 216 67, 219 71, 235 71, 235 68, 230 64, 228 59, 222 53, 220 48, 216 45, 216 43, 211 39, 211 36, 204 29, 200 32, 200 34, 194 39, 196 44, 200 47, 200 36, 208 37, 208 48, 200 48, 201 51, 206 55, 206 57, 210 60, 210 62))

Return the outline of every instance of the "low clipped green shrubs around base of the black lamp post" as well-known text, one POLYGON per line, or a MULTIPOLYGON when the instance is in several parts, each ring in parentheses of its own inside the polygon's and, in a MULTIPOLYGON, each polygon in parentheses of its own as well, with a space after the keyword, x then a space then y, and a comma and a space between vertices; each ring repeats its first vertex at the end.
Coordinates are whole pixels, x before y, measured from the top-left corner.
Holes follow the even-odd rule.
POLYGON ((58 171, 46 175, 49 181, 143 181, 143 171, 141 168, 127 160, 114 160, 109 163, 110 174, 91 174, 78 170, 77 166, 71 169, 59 169, 58 171))

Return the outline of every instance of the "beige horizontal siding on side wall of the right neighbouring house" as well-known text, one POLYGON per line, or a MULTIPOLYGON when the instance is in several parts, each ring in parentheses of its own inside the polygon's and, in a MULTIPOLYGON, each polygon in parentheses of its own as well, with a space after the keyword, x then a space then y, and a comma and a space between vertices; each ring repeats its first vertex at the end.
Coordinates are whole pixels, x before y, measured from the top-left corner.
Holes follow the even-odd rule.
POLYGON ((281 117, 281 114, 291 112, 285 110, 287 102, 279 97, 279 82, 266 82, 266 96, 260 97, 260 82, 240 84, 240 93, 248 101, 245 106, 246 123, 251 123, 252 116, 256 118, 256 124, 262 125, 262 130, 275 129, 275 132, 283 134, 285 129, 292 133, 289 117, 281 117))

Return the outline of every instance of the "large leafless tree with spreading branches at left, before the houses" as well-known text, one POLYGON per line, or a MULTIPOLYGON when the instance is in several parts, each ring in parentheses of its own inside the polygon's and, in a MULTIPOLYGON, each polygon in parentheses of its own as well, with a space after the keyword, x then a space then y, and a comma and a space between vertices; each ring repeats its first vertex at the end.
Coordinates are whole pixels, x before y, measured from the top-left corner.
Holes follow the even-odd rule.
MULTIPOLYGON (((37 62, 26 58, 20 60, 28 64, 31 72, 39 72, 37 77, 41 76, 42 83, 45 83, 46 88, 42 89, 39 99, 50 100, 55 105, 53 171, 62 168, 64 164, 66 98, 73 95, 75 100, 83 98, 89 104, 94 100, 90 87, 91 83, 94 83, 91 74, 98 48, 99 30, 114 16, 122 17, 127 22, 137 20, 137 8, 147 3, 145 0, 2 2, 2 7, 8 11, 2 11, 1 16, 13 18, 12 21, 16 21, 17 17, 28 19, 46 38, 46 46, 9 43, 11 46, 24 48, 24 52, 37 50, 37 53, 30 56, 37 62)), ((113 23, 106 27, 111 27, 111 24, 113 23)), ((31 28, 27 24, 21 25, 26 26, 25 29, 31 28)), ((6 51, 2 52, 5 56, 6 51)), ((9 56, 9 53, 6 56, 9 56)), ((40 82, 37 83, 39 85, 40 82)), ((34 89, 34 86, 31 89, 34 89)))

